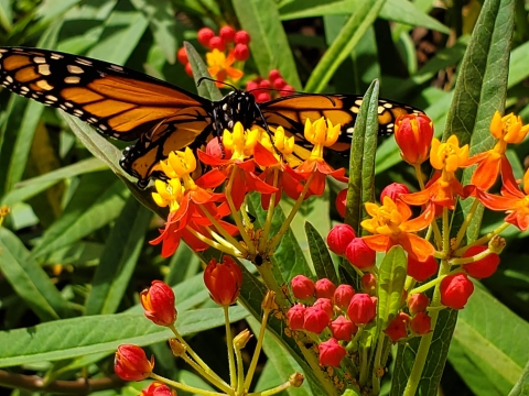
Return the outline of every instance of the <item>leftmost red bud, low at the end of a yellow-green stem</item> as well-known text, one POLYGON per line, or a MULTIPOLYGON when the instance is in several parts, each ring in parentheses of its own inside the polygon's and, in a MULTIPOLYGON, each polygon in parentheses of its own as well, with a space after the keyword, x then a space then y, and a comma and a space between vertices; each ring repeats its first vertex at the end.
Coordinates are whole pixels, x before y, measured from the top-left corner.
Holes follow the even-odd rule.
POLYGON ((154 369, 154 356, 149 361, 145 352, 136 345, 119 345, 114 359, 114 371, 121 380, 142 381, 154 369))

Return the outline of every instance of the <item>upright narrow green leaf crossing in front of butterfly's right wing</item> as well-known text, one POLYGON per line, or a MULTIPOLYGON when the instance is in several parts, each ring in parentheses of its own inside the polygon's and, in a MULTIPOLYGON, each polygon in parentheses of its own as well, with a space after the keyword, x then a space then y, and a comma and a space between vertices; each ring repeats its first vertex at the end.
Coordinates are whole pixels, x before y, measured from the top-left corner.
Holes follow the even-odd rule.
POLYGON ((364 205, 375 200, 375 153, 378 136, 378 80, 366 91, 350 145, 349 184, 345 223, 359 235, 364 205))

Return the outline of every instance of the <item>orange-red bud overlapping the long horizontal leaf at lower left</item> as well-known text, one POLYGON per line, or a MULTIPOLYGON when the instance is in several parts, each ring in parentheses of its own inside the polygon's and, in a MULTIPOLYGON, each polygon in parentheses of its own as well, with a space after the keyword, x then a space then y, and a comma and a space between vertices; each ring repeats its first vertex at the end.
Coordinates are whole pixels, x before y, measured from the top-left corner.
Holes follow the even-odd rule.
POLYGON ((151 287, 140 293, 140 302, 147 319, 159 326, 171 326, 176 320, 174 293, 162 280, 153 280, 151 287))

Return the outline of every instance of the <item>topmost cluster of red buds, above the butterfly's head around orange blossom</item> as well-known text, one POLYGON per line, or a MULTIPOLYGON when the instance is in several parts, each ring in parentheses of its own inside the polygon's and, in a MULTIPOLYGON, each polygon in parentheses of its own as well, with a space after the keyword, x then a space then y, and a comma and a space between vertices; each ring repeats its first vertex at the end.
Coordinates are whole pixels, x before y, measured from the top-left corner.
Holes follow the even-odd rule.
MULTIPOLYGON (((198 42, 209 50, 212 53, 218 51, 219 53, 228 52, 228 56, 224 55, 222 62, 218 63, 229 63, 229 65, 224 65, 225 68, 228 68, 234 61, 245 62, 250 57, 250 50, 248 44, 250 43, 250 35, 247 31, 239 30, 235 31, 231 26, 220 28, 218 35, 209 28, 203 28, 198 31, 196 38, 198 42), (229 59, 233 58, 231 62, 229 59)), ((219 55, 216 55, 218 58, 219 55)), ((191 68, 190 61, 187 58, 187 53, 185 47, 181 47, 177 52, 179 62, 184 65, 185 73, 190 77, 193 77, 193 70, 191 68)), ((215 77, 215 76, 213 76, 215 77)))

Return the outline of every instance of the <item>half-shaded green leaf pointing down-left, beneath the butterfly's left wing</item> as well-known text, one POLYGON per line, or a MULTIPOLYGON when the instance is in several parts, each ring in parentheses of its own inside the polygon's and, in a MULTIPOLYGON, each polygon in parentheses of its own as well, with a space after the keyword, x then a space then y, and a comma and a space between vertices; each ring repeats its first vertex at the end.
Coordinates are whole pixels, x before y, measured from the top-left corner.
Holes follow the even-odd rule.
POLYGON ((72 244, 116 219, 125 205, 125 186, 108 172, 84 175, 61 218, 44 232, 33 257, 72 244))

